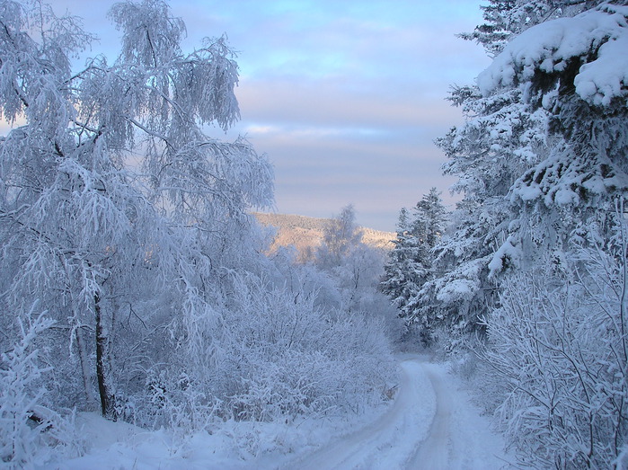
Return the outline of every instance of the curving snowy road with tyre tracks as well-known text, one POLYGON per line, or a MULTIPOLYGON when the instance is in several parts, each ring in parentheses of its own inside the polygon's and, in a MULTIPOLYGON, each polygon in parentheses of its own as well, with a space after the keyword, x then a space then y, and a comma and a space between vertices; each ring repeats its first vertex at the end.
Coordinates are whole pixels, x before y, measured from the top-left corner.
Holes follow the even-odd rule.
POLYGON ((390 410, 367 427, 286 468, 491 469, 505 465, 502 442, 489 430, 444 366, 403 359, 390 410))

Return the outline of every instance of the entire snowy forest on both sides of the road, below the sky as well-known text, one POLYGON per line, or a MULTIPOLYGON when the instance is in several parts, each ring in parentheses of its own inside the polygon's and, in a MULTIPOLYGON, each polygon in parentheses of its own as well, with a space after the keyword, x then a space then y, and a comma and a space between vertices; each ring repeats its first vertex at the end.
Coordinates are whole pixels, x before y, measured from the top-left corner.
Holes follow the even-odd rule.
POLYGON ((418 424, 389 447, 418 446, 419 354, 503 439, 494 467, 628 468, 628 2, 479 8, 461 36, 491 65, 436 142, 456 208, 418 194, 386 251, 349 205, 303 259, 252 216, 272 155, 208 137, 240 118, 226 37, 183 50, 167 3, 129 0, 119 55, 78 65, 77 18, 0 0, 0 466, 433 467, 320 450, 390 410, 418 424))

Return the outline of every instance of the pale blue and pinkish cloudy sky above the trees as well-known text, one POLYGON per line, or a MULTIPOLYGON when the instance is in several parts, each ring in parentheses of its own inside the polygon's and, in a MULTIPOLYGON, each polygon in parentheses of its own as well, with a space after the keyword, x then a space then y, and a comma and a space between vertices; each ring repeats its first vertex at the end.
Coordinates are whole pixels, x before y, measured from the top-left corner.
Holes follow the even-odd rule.
MULTIPOLYGON (((52 0, 99 37, 114 58, 114 2, 52 0)), ((452 177, 435 138, 462 122, 446 101, 490 64, 456 37, 482 21, 481 0, 172 0, 186 23, 184 50, 226 34, 237 52, 243 135, 275 169, 278 213, 332 217, 351 203, 358 224, 394 231, 402 207, 433 186, 449 207, 452 177)))

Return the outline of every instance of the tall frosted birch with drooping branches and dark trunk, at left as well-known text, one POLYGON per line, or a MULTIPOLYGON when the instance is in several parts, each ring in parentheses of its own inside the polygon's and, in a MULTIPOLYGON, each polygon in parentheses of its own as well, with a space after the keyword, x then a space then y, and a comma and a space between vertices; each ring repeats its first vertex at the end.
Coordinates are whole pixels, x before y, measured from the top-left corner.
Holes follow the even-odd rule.
POLYGON ((77 73, 71 58, 91 37, 73 18, 39 3, 3 1, 0 11, 0 106, 13 123, 0 149, 3 304, 19 311, 40 297, 78 351, 84 387, 96 377, 102 413, 115 417, 123 391, 112 351, 152 328, 155 312, 139 305, 180 279, 169 288, 181 306, 167 315, 185 314, 200 288, 189 263, 221 253, 205 234, 270 203, 272 171, 246 142, 203 134, 238 117, 236 64, 222 38, 183 53, 184 25, 163 2, 116 4, 119 58, 89 59, 77 73), (137 321, 122 331, 125 310, 137 321))

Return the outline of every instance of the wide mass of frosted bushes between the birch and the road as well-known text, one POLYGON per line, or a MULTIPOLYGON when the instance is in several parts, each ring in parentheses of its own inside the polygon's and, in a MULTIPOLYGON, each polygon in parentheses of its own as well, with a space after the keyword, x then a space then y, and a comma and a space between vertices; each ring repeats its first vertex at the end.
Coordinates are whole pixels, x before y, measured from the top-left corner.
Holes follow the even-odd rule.
POLYGON ((190 294, 172 324, 172 358, 134 398, 137 422, 195 431, 217 418, 293 420, 385 400, 394 360, 382 321, 323 308, 311 267, 293 274, 280 288, 230 271, 207 301, 190 294))

